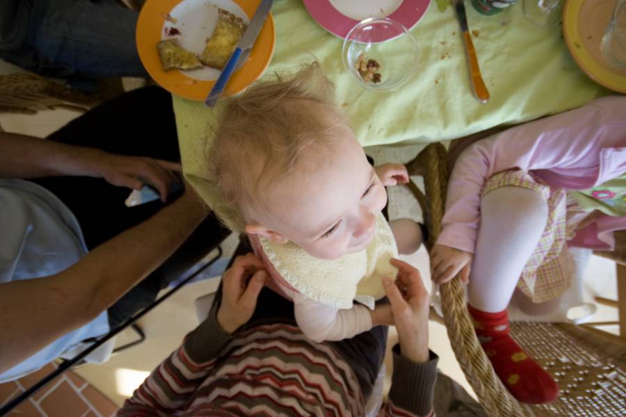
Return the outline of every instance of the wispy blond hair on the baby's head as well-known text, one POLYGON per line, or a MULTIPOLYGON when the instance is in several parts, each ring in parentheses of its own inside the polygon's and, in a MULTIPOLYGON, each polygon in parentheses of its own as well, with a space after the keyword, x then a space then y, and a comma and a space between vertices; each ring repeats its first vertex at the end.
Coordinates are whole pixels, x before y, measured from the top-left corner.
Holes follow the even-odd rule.
POLYGON ((318 63, 257 81, 228 99, 218 121, 203 181, 215 196, 212 208, 227 227, 243 230, 266 211, 259 179, 289 173, 303 149, 334 142, 346 126, 318 63))

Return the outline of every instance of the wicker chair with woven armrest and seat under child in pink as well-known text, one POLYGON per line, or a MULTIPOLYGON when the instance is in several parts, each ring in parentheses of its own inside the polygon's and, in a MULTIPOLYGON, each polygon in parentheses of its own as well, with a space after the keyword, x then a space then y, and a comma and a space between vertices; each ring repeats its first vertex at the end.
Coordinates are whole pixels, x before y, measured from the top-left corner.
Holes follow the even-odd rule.
MULTIPOLYGON (((430 250, 441 231, 447 181, 447 152, 428 145, 408 164, 411 174, 424 177, 426 195, 417 187, 429 236, 430 250)), ((559 383, 561 393, 551 404, 522 404, 495 375, 476 338, 458 278, 440 287, 444 322, 451 345, 467 380, 490 416, 626 416, 626 343, 617 336, 567 324, 518 322, 511 336, 559 383)))

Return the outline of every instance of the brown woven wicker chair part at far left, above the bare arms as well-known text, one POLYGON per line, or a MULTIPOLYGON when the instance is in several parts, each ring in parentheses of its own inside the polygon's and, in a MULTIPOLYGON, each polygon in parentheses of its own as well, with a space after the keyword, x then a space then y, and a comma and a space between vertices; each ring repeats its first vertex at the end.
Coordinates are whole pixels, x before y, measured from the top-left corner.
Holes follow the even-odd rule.
POLYGON ((0 113, 35 114, 52 108, 84 112, 122 92, 121 79, 103 80, 95 93, 87 94, 28 72, 0 75, 0 113))

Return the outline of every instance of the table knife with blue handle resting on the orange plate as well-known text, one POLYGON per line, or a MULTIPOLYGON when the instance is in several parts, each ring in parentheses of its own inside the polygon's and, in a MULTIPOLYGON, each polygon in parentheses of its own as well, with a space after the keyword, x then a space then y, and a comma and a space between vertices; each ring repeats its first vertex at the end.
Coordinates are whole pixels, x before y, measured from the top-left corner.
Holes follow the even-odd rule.
POLYGON ((224 69, 222 70, 222 73, 220 74, 217 81, 215 82, 213 88, 211 88, 209 95, 207 95, 207 99, 204 100, 204 104, 206 104, 207 106, 215 106, 218 98, 220 97, 222 91, 228 83, 232 72, 234 72, 237 61, 241 57, 242 52, 246 51, 246 49, 252 49, 252 47, 254 46, 255 41, 257 40, 257 36, 259 35, 259 32, 261 31, 261 28, 263 27, 263 24, 267 19, 267 15, 272 8, 272 3, 273 0, 262 0, 259 4, 255 15, 252 16, 252 19, 250 19, 250 24, 248 24, 246 31, 243 32, 243 36, 241 36, 237 47, 228 59, 226 65, 224 65, 224 69))

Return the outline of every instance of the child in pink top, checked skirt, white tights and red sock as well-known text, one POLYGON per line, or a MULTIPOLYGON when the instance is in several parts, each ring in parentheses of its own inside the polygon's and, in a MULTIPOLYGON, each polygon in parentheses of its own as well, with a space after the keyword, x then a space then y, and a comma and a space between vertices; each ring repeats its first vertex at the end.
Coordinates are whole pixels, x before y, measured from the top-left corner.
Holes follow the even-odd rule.
POLYGON ((612 249, 612 231, 626 229, 616 204, 626 198, 625 174, 626 97, 508 129, 456 161, 433 279, 460 272, 468 282, 476 333, 522 402, 552 401, 559 387, 508 336, 506 306, 516 287, 544 310, 558 305, 572 273, 568 245, 612 249))

